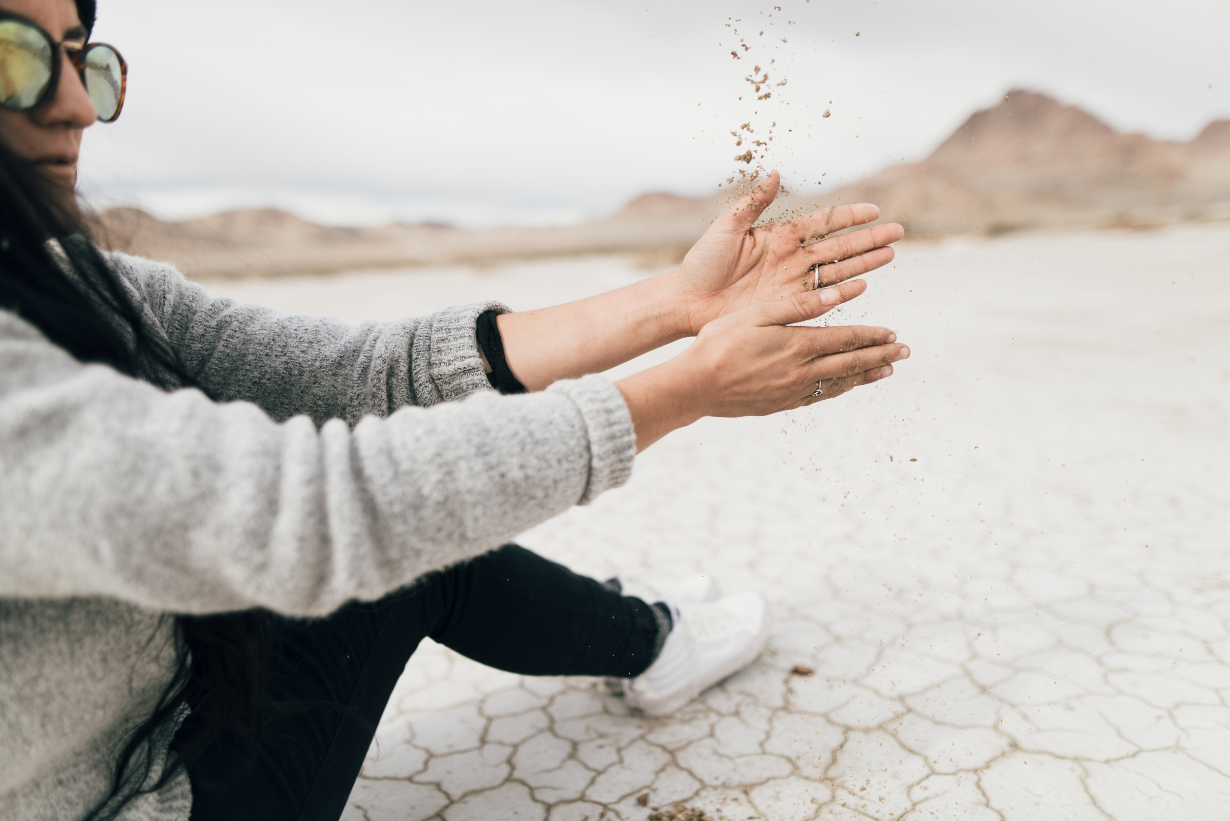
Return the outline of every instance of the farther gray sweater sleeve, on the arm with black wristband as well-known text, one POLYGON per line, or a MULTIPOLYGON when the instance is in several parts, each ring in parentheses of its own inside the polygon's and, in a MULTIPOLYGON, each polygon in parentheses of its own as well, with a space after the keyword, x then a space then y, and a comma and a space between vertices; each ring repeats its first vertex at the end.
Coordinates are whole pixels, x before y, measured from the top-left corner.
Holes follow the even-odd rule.
POLYGON ((317 425, 341 419, 353 426, 403 405, 491 390, 475 324, 483 311, 508 310, 498 303, 348 325, 210 298, 169 265, 107 256, 145 326, 215 399, 255 402, 276 420, 306 414, 317 425))

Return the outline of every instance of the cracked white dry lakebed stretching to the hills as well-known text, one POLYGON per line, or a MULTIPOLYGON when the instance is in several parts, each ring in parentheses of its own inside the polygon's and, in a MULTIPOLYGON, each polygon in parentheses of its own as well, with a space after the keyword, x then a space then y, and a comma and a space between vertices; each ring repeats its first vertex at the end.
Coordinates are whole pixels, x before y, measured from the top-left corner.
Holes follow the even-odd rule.
MULTIPOLYGON (((636 276, 588 258, 214 289, 357 320, 636 276)), ((765 655, 649 719, 599 681, 424 643, 349 821, 1230 816, 1230 231, 903 245, 868 281, 828 321, 897 330, 914 356, 892 379, 673 433, 520 539, 643 587, 759 587, 765 655)))

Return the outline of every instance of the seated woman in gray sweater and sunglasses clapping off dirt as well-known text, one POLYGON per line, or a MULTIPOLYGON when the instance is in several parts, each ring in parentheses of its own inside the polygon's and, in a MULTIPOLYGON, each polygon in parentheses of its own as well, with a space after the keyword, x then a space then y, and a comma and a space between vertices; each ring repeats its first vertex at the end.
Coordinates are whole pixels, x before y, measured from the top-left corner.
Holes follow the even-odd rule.
POLYGON ((93 1, 0 12, 0 816, 336 819, 427 635, 657 714, 759 652, 754 595, 680 611, 506 543, 701 416, 889 375, 887 329, 788 325, 899 226, 753 230, 771 176, 678 271, 571 305, 344 326, 210 299, 75 233, 81 133, 123 103, 93 1))

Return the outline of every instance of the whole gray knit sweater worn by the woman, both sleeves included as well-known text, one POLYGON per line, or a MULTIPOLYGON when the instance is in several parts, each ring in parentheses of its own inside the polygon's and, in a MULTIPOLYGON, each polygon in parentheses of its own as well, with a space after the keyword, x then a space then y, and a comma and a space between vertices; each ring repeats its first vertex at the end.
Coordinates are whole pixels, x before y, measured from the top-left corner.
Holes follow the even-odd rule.
MULTIPOLYGON (((380 598, 622 484, 635 453, 610 382, 490 389, 475 321, 498 305, 352 326, 111 258, 219 401, 154 362, 81 364, 0 310, 2 819, 79 819, 108 794, 169 682, 169 613, 380 598)), ((176 726, 125 793, 157 780, 176 726)), ((181 773, 119 817, 191 803, 181 773)))

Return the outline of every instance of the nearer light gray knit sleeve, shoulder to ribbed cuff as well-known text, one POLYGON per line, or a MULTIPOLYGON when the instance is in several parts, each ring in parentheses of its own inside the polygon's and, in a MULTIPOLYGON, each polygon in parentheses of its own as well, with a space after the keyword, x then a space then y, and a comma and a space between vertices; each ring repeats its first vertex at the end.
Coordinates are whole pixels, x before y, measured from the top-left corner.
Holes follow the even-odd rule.
POLYGON ((325 614, 593 500, 633 453, 599 377, 317 427, 81 364, 0 311, 0 598, 325 614))

